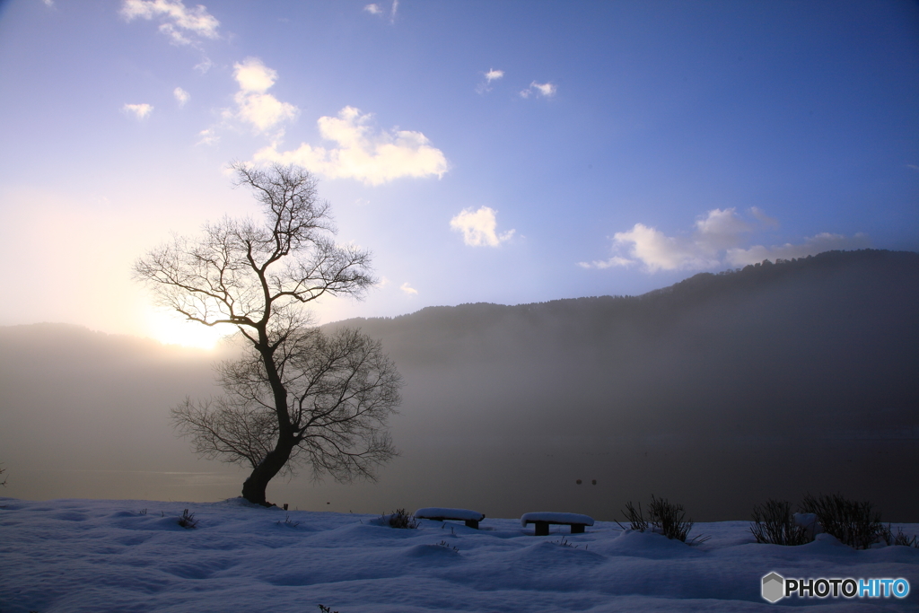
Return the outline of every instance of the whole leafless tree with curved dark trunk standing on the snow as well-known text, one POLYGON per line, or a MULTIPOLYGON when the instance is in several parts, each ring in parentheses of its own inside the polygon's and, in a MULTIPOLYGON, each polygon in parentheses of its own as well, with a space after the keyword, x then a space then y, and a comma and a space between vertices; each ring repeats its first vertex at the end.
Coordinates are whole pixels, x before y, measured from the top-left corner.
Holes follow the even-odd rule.
POLYGON ((305 170, 232 167, 264 222, 224 218, 134 266, 160 304, 200 324, 233 324, 248 347, 219 369, 226 394, 176 407, 176 426, 204 456, 251 465, 243 496, 261 505, 268 482, 304 462, 316 476, 372 478, 395 453, 385 425, 399 374, 379 343, 356 331, 324 335, 303 308, 325 295, 363 295, 374 282, 369 254, 335 244, 329 205, 305 170))

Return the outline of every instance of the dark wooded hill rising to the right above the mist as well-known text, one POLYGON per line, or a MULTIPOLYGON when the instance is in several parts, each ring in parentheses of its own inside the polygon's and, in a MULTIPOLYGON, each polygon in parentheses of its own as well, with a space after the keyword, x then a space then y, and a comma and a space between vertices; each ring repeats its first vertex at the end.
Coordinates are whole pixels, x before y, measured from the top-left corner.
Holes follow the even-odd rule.
POLYGON ((548 417, 562 403, 655 431, 721 429, 726 419, 751 434, 787 432, 789 418, 834 431, 919 426, 914 253, 827 252, 638 297, 463 304, 332 325, 379 337, 405 369, 474 372, 501 412, 520 416, 548 417))

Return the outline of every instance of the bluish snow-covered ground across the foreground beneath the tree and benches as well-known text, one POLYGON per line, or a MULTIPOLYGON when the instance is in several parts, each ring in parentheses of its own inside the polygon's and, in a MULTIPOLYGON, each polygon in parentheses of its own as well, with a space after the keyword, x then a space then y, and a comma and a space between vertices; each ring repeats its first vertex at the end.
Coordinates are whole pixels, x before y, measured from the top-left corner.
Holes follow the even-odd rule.
MULTIPOLYGON (((414 509, 409 509, 413 511, 414 509)), ((534 509, 538 510, 538 509, 534 509)), ((563 510, 563 509, 560 509, 563 510)), ((756 544, 745 521, 698 524, 698 546, 596 522, 534 537, 519 518, 482 529, 220 503, 0 498, 0 612, 919 610, 919 549, 834 539, 756 544), (181 528, 188 509, 199 520, 181 528), (289 520, 289 521, 286 521, 289 520), (905 578, 908 596, 783 598, 761 579, 905 578)), ((894 533, 896 533, 894 526, 894 533)), ((919 525, 903 525, 912 535, 919 525)))

